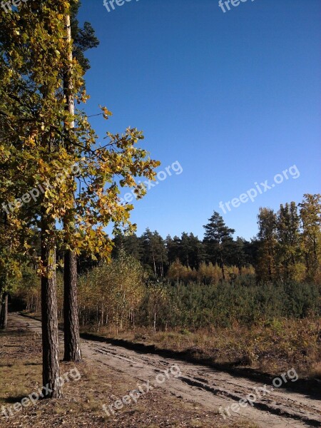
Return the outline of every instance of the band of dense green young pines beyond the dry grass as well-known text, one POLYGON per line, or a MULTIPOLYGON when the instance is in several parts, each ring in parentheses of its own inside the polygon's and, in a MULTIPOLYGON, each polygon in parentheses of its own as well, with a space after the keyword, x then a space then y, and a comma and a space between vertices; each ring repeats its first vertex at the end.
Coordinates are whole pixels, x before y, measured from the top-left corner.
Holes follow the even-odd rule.
MULTIPOLYGON (((232 283, 176 282, 163 287, 170 298, 162 312, 158 311, 158 319, 168 327, 230 327, 234 322, 250 325, 259 320, 320 315, 320 290, 311 284, 257 284, 253 276, 244 275, 232 283)), ((146 313, 151 301, 143 302, 141 310, 146 313)), ((151 325, 148 319, 143 325, 151 325)))

